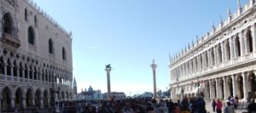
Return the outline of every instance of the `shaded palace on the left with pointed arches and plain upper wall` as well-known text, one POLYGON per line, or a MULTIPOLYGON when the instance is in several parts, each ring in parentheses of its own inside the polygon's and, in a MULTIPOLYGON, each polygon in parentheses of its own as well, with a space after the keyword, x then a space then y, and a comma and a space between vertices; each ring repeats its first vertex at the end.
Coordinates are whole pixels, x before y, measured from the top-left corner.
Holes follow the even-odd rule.
POLYGON ((72 99, 72 34, 30 0, 0 0, 0 20, 0 109, 72 99))

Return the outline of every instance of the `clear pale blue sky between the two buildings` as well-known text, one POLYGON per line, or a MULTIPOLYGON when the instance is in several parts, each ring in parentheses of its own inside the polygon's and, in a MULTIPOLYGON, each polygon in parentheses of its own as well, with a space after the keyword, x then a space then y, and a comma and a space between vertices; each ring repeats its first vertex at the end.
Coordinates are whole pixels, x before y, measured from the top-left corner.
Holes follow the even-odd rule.
MULTIPOLYGON (((73 76, 83 88, 107 92, 105 65, 112 66, 111 91, 127 96, 153 92, 171 81, 169 54, 212 30, 236 0, 33 0, 73 33, 73 76)), ((241 0, 242 6, 249 0, 241 0)))

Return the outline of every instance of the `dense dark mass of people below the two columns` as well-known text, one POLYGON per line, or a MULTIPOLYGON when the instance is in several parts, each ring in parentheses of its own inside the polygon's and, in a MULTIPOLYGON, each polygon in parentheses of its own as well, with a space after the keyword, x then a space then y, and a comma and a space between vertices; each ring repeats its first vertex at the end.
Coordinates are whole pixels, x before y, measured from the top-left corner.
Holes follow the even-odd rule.
POLYGON ((206 103, 202 98, 172 99, 119 99, 101 101, 61 102, 61 112, 82 113, 207 113, 206 103))

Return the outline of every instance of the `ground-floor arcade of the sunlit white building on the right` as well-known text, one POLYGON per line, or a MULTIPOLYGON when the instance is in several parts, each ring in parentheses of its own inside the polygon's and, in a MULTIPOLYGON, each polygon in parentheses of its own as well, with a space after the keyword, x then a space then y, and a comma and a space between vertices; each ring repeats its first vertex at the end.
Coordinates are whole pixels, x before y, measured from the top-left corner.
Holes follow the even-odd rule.
POLYGON ((199 81, 199 87, 189 83, 179 88, 172 88, 172 98, 192 97, 198 93, 205 99, 228 99, 237 96, 239 99, 256 98, 256 71, 244 71, 229 76, 199 81))

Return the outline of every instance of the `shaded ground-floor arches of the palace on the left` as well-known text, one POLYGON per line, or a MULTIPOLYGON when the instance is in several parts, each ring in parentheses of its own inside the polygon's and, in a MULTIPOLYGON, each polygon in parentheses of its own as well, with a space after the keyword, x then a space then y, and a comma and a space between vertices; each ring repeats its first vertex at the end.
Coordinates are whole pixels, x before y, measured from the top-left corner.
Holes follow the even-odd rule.
MULTIPOLYGON (((1 109, 26 109, 31 107, 46 108, 50 106, 49 88, 24 88, 5 86, 1 89, 1 109)), ((60 101, 67 101, 71 94, 67 91, 56 93, 60 101)))

